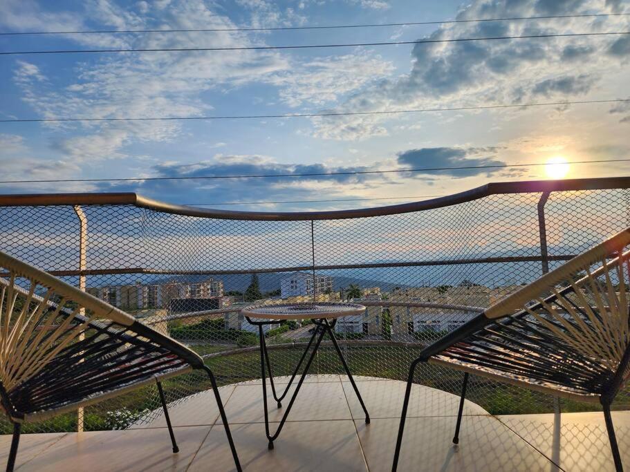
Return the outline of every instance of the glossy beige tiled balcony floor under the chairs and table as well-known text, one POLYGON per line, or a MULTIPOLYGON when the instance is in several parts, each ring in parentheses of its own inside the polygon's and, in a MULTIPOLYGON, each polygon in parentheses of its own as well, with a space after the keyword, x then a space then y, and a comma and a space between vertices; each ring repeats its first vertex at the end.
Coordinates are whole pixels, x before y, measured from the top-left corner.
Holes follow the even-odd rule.
MULTIPOLYGON (((288 378, 280 377, 283 388, 288 378), (284 384, 283 384, 284 382, 284 384)), ((260 381, 221 387, 241 464, 250 471, 389 471, 405 383, 358 377, 371 415, 362 410, 346 377, 306 379, 288 422, 268 451, 260 381)), ((288 400, 285 401, 288 404, 288 400)), ((283 410, 270 402, 270 419, 283 410)), ((399 470, 567 471, 614 470, 602 413, 493 417, 466 402, 460 443, 451 442, 458 397, 414 385, 399 470)), ((163 417, 126 431, 23 435, 19 471, 230 471, 232 455, 212 392, 169 408, 180 447, 171 451, 163 417)), ((624 463, 630 464, 630 412, 613 413, 624 463)), ((275 428, 275 424, 271 425, 275 428)), ((6 462, 10 436, 0 437, 6 462)), ((4 462, 0 462, 4 464, 4 462)))

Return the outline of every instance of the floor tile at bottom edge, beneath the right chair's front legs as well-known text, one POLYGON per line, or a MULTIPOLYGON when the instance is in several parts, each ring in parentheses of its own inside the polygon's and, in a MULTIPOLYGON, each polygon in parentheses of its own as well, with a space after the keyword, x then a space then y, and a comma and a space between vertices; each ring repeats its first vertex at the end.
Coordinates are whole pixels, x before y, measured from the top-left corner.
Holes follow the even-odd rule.
MULTIPOLYGON (((355 421, 369 470, 391 471, 398 419, 355 421)), ((550 462, 490 416, 462 418, 459 444, 454 417, 407 418, 398 471, 546 471, 550 462)))

